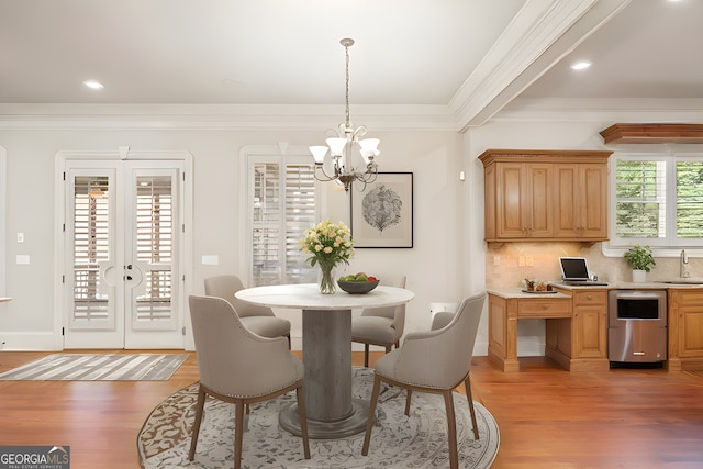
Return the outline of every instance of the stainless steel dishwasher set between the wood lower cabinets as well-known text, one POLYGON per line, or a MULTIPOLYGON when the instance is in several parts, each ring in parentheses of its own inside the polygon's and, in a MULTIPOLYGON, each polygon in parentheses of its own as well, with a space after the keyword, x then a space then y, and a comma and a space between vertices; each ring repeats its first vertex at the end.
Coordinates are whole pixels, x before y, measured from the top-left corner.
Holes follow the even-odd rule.
POLYGON ((611 364, 667 359, 666 290, 611 290, 607 306, 611 364))

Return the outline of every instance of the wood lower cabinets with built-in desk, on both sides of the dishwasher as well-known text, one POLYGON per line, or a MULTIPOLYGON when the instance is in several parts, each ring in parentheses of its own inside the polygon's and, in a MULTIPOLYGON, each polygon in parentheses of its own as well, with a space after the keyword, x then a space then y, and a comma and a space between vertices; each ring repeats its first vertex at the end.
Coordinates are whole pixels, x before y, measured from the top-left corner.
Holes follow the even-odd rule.
MULTIPOLYGON (((545 356, 571 371, 606 370, 607 290, 567 290, 551 298, 489 294, 489 358, 518 371, 517 321, 545 320, 545 356)), ((668 289, 670 371, 703 370, 703 289, 668 289)))

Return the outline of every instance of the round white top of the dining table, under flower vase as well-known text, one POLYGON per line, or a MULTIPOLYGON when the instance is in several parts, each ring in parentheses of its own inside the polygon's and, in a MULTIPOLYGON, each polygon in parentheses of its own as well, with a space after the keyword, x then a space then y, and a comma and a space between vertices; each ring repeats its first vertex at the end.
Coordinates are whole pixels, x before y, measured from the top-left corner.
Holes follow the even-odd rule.
POLYGON ((366 294, 349 294, 338 288, 334 294, 322 294, 316 283, 304 283, 248 288, 237 291, 235 297, 268 308, 353 310, 408 303, 415 293, 404 288, 378 286, 366 294))

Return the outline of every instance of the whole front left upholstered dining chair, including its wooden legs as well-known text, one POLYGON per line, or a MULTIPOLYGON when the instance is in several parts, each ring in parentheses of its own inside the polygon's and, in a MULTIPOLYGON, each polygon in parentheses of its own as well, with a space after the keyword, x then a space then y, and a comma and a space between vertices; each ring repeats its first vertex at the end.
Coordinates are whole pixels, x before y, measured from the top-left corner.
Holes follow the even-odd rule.
POLYGON ((200 383, 188 459, 193 460, 208 395, 234 403, 234 467, 242 467, 245 405, 295 390, 303 439, 310 459, 308 420, 303 395, 302 361, 283 337, 261 337, 243 326, 232 304, 222 298, 190 295, 190 317, 196 342, 200 383))

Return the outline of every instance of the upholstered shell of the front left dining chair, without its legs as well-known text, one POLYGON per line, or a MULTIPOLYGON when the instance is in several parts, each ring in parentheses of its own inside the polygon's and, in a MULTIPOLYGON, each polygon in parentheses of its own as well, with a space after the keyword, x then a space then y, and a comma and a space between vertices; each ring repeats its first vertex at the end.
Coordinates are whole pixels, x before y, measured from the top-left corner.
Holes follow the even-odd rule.
POLYGON ((189 298, 200 382, 230 397, 254 397, 302 379, 302 364, 284 337, 249 332, 232 304, 216 297, 189 298), (243 379, 244 378, 244 379, 243 379))

